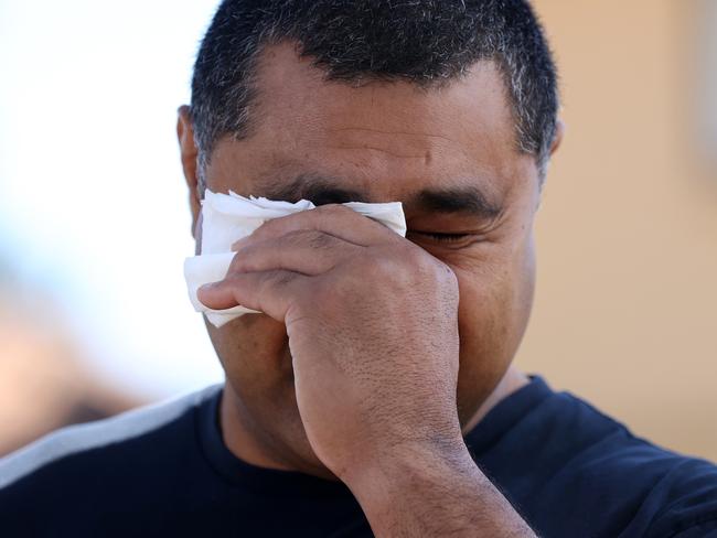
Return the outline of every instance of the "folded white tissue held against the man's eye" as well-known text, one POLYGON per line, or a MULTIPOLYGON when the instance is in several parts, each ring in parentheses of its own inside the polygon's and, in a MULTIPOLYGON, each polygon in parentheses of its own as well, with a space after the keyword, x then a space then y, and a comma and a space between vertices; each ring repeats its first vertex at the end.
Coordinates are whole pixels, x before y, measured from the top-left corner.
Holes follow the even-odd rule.
MULTIPOLYGON (((406 218, 400 202, 386 204, 349 202, 343 205, 406 236, 406 218)), ((207 189, 202 201, 201 254, 184 260, 184 279, 194 310, 204 312, 207 320, 216 327, 242 314, 256 312, 244 306, 226 310, 208 309, 197 299, 196 290, 205 283, 216 282, 226 276, 236 255, 232 250, 235 241, 250 235, 266 220, 314 207, 308 200, 292 204, 254 196, 246 198, 232 191, 229 194, 213 193, 207 189)))

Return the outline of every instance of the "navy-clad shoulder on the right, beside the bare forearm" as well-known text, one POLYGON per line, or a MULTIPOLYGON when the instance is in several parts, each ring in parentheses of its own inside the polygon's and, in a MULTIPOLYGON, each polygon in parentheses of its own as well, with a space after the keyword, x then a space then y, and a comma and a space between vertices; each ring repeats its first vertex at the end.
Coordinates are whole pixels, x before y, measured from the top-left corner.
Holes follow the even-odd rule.
POLYGON ((682 538, 717 519, 717 466, 642 439, 541 379, 499 404, 471 443, 546 535, 682 538))

